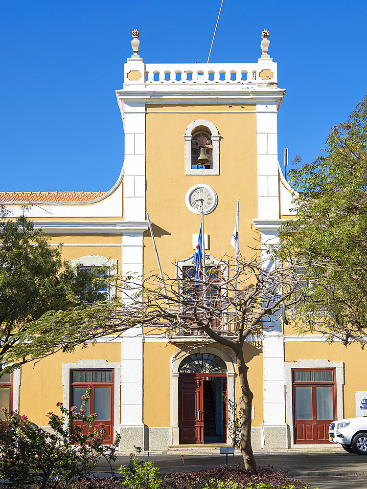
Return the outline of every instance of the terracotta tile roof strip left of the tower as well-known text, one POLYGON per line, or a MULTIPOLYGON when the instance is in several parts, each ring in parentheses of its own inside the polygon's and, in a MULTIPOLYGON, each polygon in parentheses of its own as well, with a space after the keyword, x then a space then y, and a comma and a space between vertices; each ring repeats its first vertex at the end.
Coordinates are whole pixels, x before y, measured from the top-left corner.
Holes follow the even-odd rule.
POLYGON ((0 202, 90 202, 107 192, 0 192, 0 202))

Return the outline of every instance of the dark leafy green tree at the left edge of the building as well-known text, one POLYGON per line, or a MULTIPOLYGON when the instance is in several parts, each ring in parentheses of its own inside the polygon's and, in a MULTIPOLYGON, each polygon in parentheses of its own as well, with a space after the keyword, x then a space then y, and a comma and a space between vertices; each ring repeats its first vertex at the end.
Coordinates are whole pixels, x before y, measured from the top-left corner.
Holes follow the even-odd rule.
MULTIPOLYGON (((83 322, 100 325, 93 311, 109 309, 99 293, 106 279, 97 271, 75 273, 61 259, 61 245, 51 247, 49 239, 23 215, 11 219, 0 209, 0 373, 20 364, 49 355, 57 349, 73 350, 67 339, 70 328, 77 334, 77 319, 53 331, 52 325, 37 320, 47 311, 54 314, 69 311, 77 316, 83 311, 83 322), (91 312, 85 313, 90 306, 91 312), (55 338, 58 348, 55 349, 55 338)), ((81 335, 81 338, 83 336, 81 335)))

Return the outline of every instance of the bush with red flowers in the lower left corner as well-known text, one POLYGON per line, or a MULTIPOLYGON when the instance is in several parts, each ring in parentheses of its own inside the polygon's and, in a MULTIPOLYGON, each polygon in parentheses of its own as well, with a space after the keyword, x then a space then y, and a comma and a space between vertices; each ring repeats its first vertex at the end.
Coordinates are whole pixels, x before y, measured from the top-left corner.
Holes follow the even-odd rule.
POLYGON ((0 423, 0 478, 11 488, 36 484, 40 489, 69 488, 71 480, 89 475, 101 457, 109 463, 116 460, 114 445, 103 445, 105 429, 102 423, 92 429, 96 414, 86 414, 85 405, 91 395, 88 386, 80 410, 70 410, 58 402, 61 415, 47 413, 51 432, 30 422, 17 412, 10 415, 2 408, 5 422, 0 423), (80 425, 73 425, 73 421, 80 425), (46 486, 47 485, 47 486, 46 486))

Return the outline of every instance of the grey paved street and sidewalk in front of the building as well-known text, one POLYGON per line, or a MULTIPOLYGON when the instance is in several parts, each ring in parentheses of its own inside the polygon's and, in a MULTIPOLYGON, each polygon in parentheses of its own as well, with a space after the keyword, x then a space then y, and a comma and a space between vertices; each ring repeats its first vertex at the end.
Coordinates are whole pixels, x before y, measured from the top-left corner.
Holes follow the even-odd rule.
MULTIPOLYGON (((152 460, 161 473, 184 470, 181 455, 187 470, 200 470, 226 462, 226 456, 216 451, 185 450, 173 452, 151 452, 152 460)), ((259 466, 271 466, 278 470, 287 470, 290 478, 302 479, 310 483, 310 488, 320 489, 367 489, 367 456, 351 455, 342 447, 332 446, 329 449, 289 449, 265 452, 255 450, 256 463, 259 466)), ((147 459, 147 452, 139 455, 140 460, 147 459)), ((118 454, 115 467, 126 465, 129 455, 118 454)), ((242 457, 236 453, 235 463, 241 463, 242 457)), ((96 473, 108 471, 105 463, 100 463, 96 473)))

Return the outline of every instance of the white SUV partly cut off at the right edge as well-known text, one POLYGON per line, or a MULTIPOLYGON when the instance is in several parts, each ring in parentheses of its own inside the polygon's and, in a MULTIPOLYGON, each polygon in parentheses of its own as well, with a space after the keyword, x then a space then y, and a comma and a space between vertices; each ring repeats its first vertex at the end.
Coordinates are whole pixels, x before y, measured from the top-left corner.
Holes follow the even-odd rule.
POLYGON ((367 455, 367 416, 330 423, 330 442, 340 443, 349 453, 367 455))

